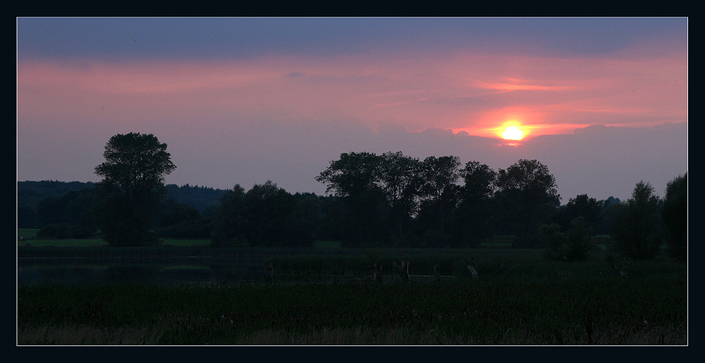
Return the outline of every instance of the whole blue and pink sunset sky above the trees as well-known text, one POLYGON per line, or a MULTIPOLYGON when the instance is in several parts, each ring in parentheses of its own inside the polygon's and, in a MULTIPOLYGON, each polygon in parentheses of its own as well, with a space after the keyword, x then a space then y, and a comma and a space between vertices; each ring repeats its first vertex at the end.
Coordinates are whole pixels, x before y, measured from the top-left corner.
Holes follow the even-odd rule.
POLYGON ((345 152, 537 159, 561 203, 688 166, 687 18, 16 18, 17 178, 93 181, 154 134, 167 184, 314 178, 345 152), (520 141, 504 140, 517 125, 520 141))

